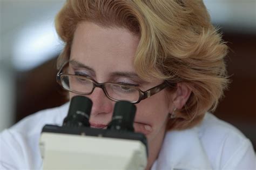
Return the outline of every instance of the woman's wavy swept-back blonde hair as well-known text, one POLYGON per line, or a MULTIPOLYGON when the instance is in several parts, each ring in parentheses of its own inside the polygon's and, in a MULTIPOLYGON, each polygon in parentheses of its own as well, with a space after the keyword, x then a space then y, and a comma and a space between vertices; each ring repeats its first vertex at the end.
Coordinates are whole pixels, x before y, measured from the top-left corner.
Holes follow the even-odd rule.
POLYGON ((192 93, 176 111, 167 129, 192 127, 214 111, 227 87, 227 46, 212 26, 203 1, 193 0, 68 0, 56 17, 65 42, 58 67, 69 59, 79 22, 120 27, 140 37, 134 67, 143 79, 185 82, 192 93))

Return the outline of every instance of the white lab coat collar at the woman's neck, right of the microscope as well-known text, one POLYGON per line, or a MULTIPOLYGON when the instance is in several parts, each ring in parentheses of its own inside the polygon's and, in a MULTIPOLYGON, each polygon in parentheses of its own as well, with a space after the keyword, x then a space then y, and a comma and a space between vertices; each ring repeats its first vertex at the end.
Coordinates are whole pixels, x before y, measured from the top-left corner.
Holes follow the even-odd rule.
POLYGON ((198 127, 167 132, 158 160, 153 167, 163 170, 212 170, 199 134, 198 127))

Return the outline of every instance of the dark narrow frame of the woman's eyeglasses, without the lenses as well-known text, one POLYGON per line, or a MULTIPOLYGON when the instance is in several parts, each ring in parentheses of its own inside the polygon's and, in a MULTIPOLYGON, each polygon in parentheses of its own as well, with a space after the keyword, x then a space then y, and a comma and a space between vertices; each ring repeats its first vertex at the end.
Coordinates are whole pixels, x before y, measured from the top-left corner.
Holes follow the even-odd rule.
MULTIPOLYGON (((112 97, 109 96, 109 94, 106 92, 106 88, 105 88, 105 84, 106 83, 109 83, 109 84, 116 84, 116 85, 123 85, 123 84, 118 84, 118 83, 112 83, 112 82, 104 82, 104 83, 98 83, 96 80, 92 79, 92 78, 89 78, 89 77, 85 77, 85 76, 80 76, 80 75, 76 75, 76 74, 68 74, 68 73, 63 73, 62 70, 64 68, 64 66, 66 64, 68 64, 70 62, 70 60, 66 61, 59 69, 59 71, 57 72, 57 75, 56 75, 56 79, 57 79, 57 83, 64 89, 64 90, 67 90, 67 91, 70 91, 70 92, 73 92, 73 93, 77 93, 77 94, 83 94, 83 95, 89 95, 91 94, 94 90, 95 90, 95 87, 99 87, 100 89, 103 90, 103 92, 105 93, 105 96, 107 98, 109 98, 110 100, 113 100, 113 101, 120 101, 120 100, 117 100, 117 99, 114 99, 112 97), (76 76, 76 77, 82 77, 82 78, 86 78, 86 79, 89 79, 92 84, 93 84, 93 87, 92 87, 92 90, 90 93, 79 93, 79 92, 75 92, 75 91, 72 91, 72 90, 68 90, 68 89, 65 89, 62 85, 62 79, 61 79, 61 76, 76 76)), ((130 101, 131 103, 133 104, 138 104, 141 100, 144 100, 146 98, 149 98, 151 96, 153 96, 154 94, 160 92, 161 90, 165 89, 166 87, 174 87, 174 86, 171 86, 170 83, 167 83, 167 81, 164 81, 163 83, 157 85, 157 86, 154 86, 146 91, 142 91, 139 89, 139 87, 134 87, 134 86, 131 86, 131 85, 123 85, 123 86, 128 86, 128 87, 132 87, 136 90, 139 91, 139 98, 137 101, 130 101)))

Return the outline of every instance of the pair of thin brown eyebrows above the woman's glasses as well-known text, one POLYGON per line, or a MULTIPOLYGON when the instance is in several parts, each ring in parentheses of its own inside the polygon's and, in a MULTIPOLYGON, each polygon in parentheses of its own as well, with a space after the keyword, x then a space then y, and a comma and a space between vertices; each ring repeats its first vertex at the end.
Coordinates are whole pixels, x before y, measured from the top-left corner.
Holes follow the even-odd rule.
MULTIPOLYGON (((93 70, 91 67, 89 66, 86 66, 76 60, 70 60, 70 64, 72 64, 74 67, 77 67, 77 68, 84 68, 88 71, 91 71, 95 76, 95 70, 93 70)), ((110 77, 126 77, 126 78, 131 78, 133 80, 136 80, 138 81, 138 83, 145 83, 145 81, 143 81, 139 76, 138 74, 134 73, 134 72, 112 72, 110 74, 110 77)))

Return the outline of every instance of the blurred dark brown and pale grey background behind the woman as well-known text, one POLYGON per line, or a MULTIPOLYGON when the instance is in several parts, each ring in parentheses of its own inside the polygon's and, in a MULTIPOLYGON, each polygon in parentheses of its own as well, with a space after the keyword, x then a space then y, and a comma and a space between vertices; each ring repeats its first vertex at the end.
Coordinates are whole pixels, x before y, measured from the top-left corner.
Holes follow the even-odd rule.
MULTIPOLYGON (((232 84, 215 111, 256 148, 256 1, 205 0, 230 46, 232 84)), ((63 0, 0 0, 0 131, 26 115, 65 102, 56 83, 63 48, 54 17, 63 0)))

